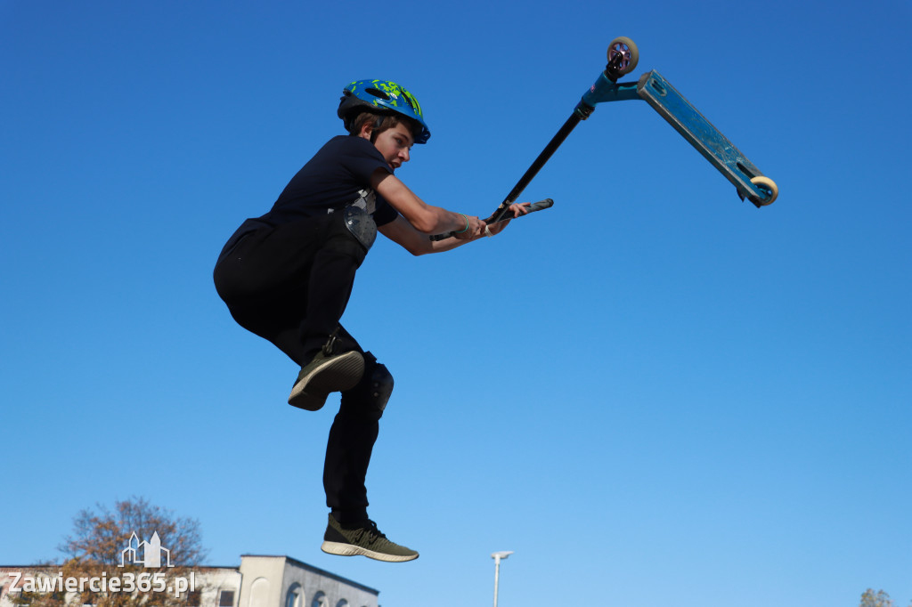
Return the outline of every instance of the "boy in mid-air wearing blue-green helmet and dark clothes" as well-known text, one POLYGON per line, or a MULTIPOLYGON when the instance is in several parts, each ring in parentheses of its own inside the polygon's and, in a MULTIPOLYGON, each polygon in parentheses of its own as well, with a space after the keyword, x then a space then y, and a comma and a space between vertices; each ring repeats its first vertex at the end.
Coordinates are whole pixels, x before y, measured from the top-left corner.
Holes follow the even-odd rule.
MULTIPOLYGON (((423 255, 492 236, 507 222, 487 226, 427 204, 395 176, 412 144, 430 138, 420 105, 405 88, 353 82, 337 114, 348 135, 317 151, 271 211, 241 224, 213 278, 234 320, 300 365, 290 405, 316 411, 330 393, 342 393, 326 445, 323 485, 331 511, 322 550, 411 561, 418 552, 387 540, 368 519, 365 477, 393 378, 339 320, 377 231, 423 255), (430 240, 443 232, 454 235, 430 240)), ((514 204, 513 217, 525 206, 514 204)), ((379 306, 374 317, 383 322, 379 306)))

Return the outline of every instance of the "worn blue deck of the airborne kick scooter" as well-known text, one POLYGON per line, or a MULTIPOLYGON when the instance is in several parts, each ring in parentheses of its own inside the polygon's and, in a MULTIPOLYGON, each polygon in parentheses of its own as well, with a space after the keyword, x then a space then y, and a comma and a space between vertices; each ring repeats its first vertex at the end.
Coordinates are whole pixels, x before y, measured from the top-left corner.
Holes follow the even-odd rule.
POLYGON ((769 192, 751 183, 763 173, 656 70, 639 78, 637 95, 730 180, 742 200, 746 197, 757 207, 770 201, 769 192))

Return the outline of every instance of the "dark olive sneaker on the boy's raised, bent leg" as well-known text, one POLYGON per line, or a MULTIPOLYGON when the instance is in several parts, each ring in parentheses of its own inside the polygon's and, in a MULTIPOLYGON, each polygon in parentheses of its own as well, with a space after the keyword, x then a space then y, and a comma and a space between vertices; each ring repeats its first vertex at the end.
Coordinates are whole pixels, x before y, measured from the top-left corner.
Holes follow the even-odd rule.
POLYGON ((326 403, 330 392, 344 392, 358 385, 364 375, 364 356, 352 350, 340 355, 326 355, 321 350, 297 374, 288 404, 307 411, 317 411, 326 403))

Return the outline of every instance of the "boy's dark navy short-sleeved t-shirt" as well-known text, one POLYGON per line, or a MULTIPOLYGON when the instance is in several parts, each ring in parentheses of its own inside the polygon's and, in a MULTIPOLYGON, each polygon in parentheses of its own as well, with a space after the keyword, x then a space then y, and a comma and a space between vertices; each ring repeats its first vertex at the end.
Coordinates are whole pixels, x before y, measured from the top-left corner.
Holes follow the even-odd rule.
MULTIPOLYGON (((297 171, 279 195, 271 211, 260 219, 273 225, 305 217, 326 215, 357 201, 370 190, 370 176, 389 164, 368 139, 339 135, 329 139, 306 165, 297 171)), ((377 225, 396 219, 398 213, 378 194, 372 214, 377 225)), ((368 209, 368 211, 370 211, 368 209)))

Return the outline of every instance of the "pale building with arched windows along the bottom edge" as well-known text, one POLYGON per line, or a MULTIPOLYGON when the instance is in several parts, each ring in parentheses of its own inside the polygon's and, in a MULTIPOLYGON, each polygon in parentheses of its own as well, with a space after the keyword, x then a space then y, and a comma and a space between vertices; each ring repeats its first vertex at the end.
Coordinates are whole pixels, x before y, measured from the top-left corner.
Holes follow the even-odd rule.
MULTIPOLYGON (((181 595, 187 607, 378 607, 379 591, 287 556, 244 554, 240 567, 199 567, 193 574, 197 590, 181 595)), ((36 579, 66 582, 53 566, 0 567, 0 607, 14 607, 10 594, 40 590, 36 579)), ((67 602, 78 604, 78 596, 67 592, 67 602)))

